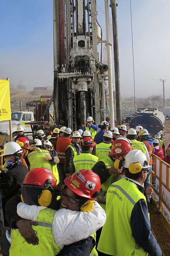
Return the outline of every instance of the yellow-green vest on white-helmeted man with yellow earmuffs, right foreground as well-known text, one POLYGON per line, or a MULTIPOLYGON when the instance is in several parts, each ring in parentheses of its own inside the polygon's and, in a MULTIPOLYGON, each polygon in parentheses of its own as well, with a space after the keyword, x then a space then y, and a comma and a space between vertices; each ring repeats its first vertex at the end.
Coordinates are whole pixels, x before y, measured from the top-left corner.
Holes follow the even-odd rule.
POLYGON ((140 199, 146 201, 137 185, 126 178, 110 185, 106 196, 106 223, 97 247, 100 252, 114 256, 147 255, 136 244, 130 224, 131 212, 140 199))

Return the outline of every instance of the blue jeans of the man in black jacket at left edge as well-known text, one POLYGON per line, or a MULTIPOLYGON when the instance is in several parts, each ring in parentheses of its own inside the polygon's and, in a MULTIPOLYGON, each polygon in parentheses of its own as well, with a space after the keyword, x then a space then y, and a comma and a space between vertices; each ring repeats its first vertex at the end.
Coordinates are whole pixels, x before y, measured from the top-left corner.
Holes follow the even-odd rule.
POLYGON ((1 252, 3 256, 9 256, 11 246, 11 228, 5 229, 4 234, 0 236, 1 252))

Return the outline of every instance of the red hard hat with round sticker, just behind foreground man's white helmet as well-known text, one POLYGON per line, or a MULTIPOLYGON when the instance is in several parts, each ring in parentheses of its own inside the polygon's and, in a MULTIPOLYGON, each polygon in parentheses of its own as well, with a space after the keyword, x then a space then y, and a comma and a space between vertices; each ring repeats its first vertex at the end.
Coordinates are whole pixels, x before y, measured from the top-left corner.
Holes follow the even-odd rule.
POLYGON ((108 156, 124 155, 130 152, 133 148, 130 143, 126 140, 115 140, 112 142, 111 152, 108 156))

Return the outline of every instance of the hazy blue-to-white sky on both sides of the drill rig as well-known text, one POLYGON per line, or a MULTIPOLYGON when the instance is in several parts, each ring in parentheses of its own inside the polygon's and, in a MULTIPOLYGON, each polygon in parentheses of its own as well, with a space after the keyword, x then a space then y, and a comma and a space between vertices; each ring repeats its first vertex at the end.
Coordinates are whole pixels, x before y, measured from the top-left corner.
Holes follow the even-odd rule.
MULTIPOLYGON (((130 0, 117 3, 121 96, 133 96, 130 0)), ((131 0, 131 7, 136 97, 163 94, 161 78, 170 98, 170 1, 131 0)), ((22 79, 28 91, 52 86, 53 1, 0 0, 0 9, 0 78, 14 86, 22 79)), ((104 0, 97 10, 105 39, 104 0)))

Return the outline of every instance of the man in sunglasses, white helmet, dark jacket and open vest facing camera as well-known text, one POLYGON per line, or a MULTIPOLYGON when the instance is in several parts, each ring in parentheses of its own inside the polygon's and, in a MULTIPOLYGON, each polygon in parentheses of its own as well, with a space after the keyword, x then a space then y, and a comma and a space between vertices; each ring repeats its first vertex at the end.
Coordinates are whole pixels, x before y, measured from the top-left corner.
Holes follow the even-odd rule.
POLYGON ((66 148, 66 159, 64 164, 66 177, 70 176, 70 169, 71 169, 71 164, 73 162, 74 156, 78 156, 81 154, 81 148, 79 146, 80 138, 81 138, 80 132, 78 131, 73 132, 72 141, 70 145, 68 145, 68 147, 66 148))

